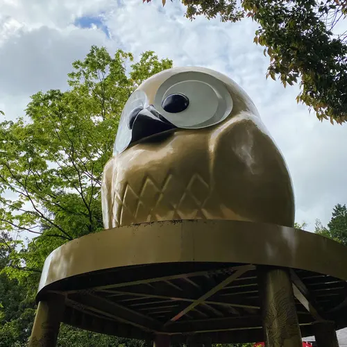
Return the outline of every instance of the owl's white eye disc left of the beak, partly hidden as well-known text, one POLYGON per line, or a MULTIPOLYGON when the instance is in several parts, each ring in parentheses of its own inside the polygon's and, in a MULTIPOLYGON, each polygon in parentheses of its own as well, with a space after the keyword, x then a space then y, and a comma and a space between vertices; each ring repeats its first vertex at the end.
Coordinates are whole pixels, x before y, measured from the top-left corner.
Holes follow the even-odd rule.
POLYGON ((115 140, 115 146, 113 148, 113 153, 117 154, 130 144, 131 141, 131 130, 128 126, 129 116, 135 108, 146 108, 148 106, 148 99, 146 93, 142 90, 136 90, 130 95, 126 105, 124 106, 123 112, 121 112, 121 119, 119 119, 119 125, 115 140))

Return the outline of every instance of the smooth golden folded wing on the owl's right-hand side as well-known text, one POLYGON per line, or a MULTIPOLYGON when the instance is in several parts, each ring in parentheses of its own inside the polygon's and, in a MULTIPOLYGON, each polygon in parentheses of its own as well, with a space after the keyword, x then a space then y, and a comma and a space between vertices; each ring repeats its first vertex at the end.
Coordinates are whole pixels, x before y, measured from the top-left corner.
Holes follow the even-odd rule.
POLYGON ((291 226, 294 194, 287 166, 261 121, 236 116, 210 137, 214 191, 243 220, 291 226))

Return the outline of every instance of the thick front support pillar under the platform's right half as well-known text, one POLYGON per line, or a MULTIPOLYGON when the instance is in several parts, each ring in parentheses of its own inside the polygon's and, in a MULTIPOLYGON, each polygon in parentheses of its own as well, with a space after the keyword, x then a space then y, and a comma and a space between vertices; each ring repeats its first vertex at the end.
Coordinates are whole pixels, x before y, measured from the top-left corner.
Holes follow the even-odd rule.
POLYGON ((266 347, 302 347, 301 331, 287 269, 257 266, 266 347))

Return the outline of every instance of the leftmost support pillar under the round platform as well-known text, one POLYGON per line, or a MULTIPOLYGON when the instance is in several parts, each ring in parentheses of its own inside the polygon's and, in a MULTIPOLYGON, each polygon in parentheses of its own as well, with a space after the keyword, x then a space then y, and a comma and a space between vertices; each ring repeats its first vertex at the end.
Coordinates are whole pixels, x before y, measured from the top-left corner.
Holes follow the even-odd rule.
POLYGON ((28 347, 55 347, 60 322, 65 310, 65 297, 49 294, 37 306, 28 347))

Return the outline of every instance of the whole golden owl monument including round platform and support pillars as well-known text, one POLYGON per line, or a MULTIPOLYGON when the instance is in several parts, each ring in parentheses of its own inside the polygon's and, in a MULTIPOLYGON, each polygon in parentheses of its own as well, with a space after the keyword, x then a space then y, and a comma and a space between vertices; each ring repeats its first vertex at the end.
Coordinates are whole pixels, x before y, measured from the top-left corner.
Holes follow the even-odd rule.
POLYGON ((268 347, 301 347, 315 319, 346 326, 346 247, 292 228, 289 171, 249 96, 196 67, 137 91, 103 172, 108 230, 47 257, 29 346, 55 346, 60 321, 157 347, 260 341, 263 330, 268 347), (328 303, 301 280, 317 273, 328 303))

